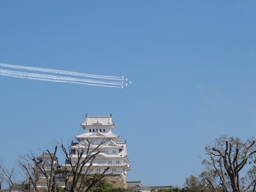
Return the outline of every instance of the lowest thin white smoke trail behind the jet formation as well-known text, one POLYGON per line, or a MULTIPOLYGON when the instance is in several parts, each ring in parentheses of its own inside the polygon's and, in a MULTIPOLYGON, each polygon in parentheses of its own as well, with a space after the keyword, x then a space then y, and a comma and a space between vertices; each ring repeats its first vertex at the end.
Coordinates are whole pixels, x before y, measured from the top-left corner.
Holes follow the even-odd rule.
POLYGON ((77 81, 65 81, 65 80, 53 80, 53 79, 36 78, 36 77, 26 77, 26 76, 20 76, 20 75, 12 75, 12 74, 8 74, 8 73, 2 73, 2 71, 0 71, 0 75, 9 76, 9 77, 16 77, 16 78, 40 80, 40 81, 66 82, 66 83, 87 84, 87 85, 89 85, 89 86, 100 86, 100 87, 109 87, 109 88, 121 88, 121 86, 104 86, 104 85, 102 85, 102 84, 82 83, 82 82, 77 82, 77 81))

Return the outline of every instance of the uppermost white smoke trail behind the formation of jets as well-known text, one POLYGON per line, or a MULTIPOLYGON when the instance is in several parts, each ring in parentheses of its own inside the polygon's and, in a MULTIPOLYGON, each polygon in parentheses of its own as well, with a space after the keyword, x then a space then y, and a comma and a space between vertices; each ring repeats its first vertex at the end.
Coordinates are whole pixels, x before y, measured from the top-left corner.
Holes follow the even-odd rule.
POLYGON ((86 74, 86 73, 77 73, 77 72, 55 70, 55 69, 26 67, 26 66, 16 66, 16 65, 6 64, 6 63, 0 63, 0 66, 1 67, 6 67, 6 68, 13 68, 13 69, 23 69, 23 70, 29 70, 29 71, 46 72, 46 73, 57 73, 57 74, 65 74, 65 75, 75 75, 75 76, 91 77, 91 78, 102 78, 102 79, 113 79, 113 80, 121 80, 123 78, 123 77, 115 77, 115 76, 91 75, 91 74, 86 74))

